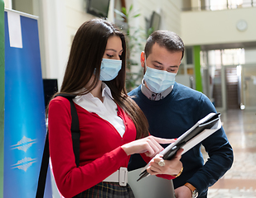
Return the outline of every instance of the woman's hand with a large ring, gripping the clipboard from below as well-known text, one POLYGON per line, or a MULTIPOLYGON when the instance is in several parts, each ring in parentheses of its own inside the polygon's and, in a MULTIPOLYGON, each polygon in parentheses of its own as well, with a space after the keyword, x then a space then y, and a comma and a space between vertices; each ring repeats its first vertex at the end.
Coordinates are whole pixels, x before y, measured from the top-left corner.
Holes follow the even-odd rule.
POLYGON ((183 148, 180 148, 176 156, 172 158, 171 160, 164 160, 165 165, 159 166, 159 162, 162 159, 161 155, 157 155, 155 158, 152 158, 152 161, 150 162, 150 166, 147 167, 147 172, 151 175, 157 175, 157 174, 167 174, 167 175, 173 175, 176 176, 181 172, 182 163, 180 161, 181 159, 181 153, 183 151, 183 148))

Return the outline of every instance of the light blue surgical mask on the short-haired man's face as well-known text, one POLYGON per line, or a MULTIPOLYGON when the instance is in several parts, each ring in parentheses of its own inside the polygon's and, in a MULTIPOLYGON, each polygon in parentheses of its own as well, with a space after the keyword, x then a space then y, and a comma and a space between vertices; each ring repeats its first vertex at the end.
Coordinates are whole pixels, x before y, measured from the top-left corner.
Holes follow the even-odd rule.
MULTIPOLYGON (((147 67, 147 66, 146 66, 147 67)), ((147 67, 144 80, 147 87, 155 93, 160 93, 174 85, 176 73, 169 73, 155 68, 147 67)))

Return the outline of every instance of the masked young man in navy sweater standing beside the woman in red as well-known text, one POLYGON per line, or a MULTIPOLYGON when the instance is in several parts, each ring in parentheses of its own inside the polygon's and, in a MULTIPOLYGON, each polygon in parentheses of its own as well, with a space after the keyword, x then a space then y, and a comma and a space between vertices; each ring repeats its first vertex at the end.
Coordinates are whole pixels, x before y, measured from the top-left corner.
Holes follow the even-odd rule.
MULTIPOLYGON (((184 54, 184 44, 176 33, 155 31, 147 39, 141 54, 144 70, 142 84, 129 92, 147 116, 150 134, 161 138, 178 138, 198 120, 216 112, 208 97, 175 82, 184 54)), ((177 198, 207 197, 207 190, 229 170, 233 150, 221 127, 201 144, 181 157, 183 172, 173 180, 177 198), (200 145, 209 158, 204 164, 200 145)), ((130 159, 129 170, 146 164, 136 154, 130 159)))

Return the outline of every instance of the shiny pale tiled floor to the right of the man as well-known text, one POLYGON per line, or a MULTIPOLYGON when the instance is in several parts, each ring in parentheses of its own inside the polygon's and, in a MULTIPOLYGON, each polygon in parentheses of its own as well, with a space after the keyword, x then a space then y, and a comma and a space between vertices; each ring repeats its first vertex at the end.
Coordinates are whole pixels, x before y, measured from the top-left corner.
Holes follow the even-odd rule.
MULTIPOLYGON (((221 121, 234 148, 234 163, 211 186, 208 197, 256 197, 256 111, 222 112, 221 121)), ((204 153, 205 158, 207 155, 204 153)))

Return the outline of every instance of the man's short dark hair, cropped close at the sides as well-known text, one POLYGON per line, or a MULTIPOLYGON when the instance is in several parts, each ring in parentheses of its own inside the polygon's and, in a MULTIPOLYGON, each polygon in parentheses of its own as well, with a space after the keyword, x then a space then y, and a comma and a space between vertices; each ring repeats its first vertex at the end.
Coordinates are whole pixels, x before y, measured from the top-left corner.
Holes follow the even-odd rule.
POLYGON ((154 31, 147 38, 145 45, 146 59, 149 54, 152 53, 152 46, 157 43, 159 46, 166 48, 170 52, 181 51, 183 58, 184 55, 184 44, 180 36, 173 31, 154 31))

